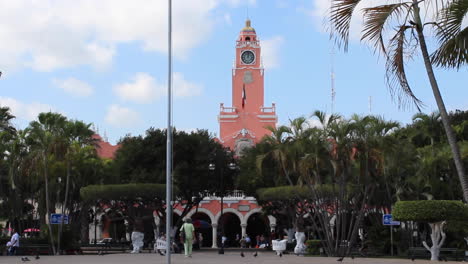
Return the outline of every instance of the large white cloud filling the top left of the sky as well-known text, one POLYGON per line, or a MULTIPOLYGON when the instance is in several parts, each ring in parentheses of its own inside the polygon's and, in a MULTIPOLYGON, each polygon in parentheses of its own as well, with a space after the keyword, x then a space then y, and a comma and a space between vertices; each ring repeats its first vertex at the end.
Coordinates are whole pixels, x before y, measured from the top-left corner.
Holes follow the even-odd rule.
MULTIPOLYGON (((208 39, 222 0, 173 1, 174 55, 185 58, 208 39)), ((120 43, 167 52, 167 1, 0 1, 0 68, 52 71, 111 65, 120 43)))

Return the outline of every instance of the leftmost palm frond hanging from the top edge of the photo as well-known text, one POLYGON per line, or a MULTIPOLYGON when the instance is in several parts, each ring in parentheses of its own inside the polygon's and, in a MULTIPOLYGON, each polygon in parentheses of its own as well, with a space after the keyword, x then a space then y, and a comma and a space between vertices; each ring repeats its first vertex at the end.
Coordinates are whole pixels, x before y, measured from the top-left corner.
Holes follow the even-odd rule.
POLYGON ((345 51, 348 50, 349 27, 354 9, 361 0, 332 0, 330 10, 330 22, 332 36, 336 32, 336 40, 339 46, 343 45, 345 51))

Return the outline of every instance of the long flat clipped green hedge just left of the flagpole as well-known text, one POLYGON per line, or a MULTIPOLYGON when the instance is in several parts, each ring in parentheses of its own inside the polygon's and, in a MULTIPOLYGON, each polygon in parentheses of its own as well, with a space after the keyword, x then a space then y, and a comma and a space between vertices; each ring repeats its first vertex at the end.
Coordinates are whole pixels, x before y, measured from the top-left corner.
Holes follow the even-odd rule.
POLYGON ((100 199, 133 200, 138 198, 163 199, 166 195, 165 184, 130 183, 88 185, 80 189, 81 199, 85 202, 100 199))

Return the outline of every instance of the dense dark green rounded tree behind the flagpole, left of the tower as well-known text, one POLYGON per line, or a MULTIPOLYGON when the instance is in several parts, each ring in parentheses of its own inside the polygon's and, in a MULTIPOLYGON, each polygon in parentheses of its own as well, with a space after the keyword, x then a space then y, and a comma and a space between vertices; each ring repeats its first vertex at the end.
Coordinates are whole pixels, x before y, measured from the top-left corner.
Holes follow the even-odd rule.
MULTIPOLYGON (((219 190, 220 168, 210 173, 209 164, 220 159, 227 166, 233 158, 206 130, 186 133, 174 129, 173 136, 173 178, 180 190, 174 200, 184 206, 182 219, 204 195, 219 190)), ((120 144, 113 165, 119 182, 165 182, 166 131, 149 129, 144 137, 125 137, 120 144)), ((234 186, 234 172, 224 169, 223 176, 225 189, 229 190, 234 186)))

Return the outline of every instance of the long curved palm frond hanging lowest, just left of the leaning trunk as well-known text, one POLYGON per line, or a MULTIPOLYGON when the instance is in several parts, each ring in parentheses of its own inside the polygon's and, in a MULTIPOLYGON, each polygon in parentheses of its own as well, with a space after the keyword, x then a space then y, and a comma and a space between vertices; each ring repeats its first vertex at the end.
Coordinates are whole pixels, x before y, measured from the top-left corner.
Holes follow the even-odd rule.
POLYGON ((421 111, 423 103, 419 100, 408 83, 405 72, 404 49, 406 46, 405 32, 411 27, 400 26, 397 33, 391 38, 386 62, 385 80, 392 98, 397 101, 399 107, 406 108, 409 103, 421 111))

